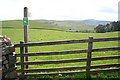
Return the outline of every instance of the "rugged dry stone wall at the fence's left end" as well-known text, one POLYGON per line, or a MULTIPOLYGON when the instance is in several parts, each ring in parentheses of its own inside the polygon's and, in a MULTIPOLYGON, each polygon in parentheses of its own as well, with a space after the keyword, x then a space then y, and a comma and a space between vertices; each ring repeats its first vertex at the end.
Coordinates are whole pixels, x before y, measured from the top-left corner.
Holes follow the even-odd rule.
POLYGON ((17 79, 15 49, 13 48, 10 38, 0 36, 0 49, 0 55, 2 58, 0 67, 2 68, 2 80, 8 78, 17 79))

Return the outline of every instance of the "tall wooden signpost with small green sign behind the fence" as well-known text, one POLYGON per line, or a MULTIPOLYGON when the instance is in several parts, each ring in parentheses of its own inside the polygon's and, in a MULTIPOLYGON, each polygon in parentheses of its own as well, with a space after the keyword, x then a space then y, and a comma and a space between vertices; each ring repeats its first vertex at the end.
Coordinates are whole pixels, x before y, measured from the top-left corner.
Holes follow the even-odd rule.
MULTIPOLYGON (((24 18, 23 18, 23 25, 24 25, 24 42, 28 43, 28 8, 24 7, 24 18)), ((25 53, 28 53, 28 47, 25 47, 25 53)), ((25 61, 28 61, 28 56, 25 57, 25 61)), ((28 65, 26 65, 26 69, 28 65)))

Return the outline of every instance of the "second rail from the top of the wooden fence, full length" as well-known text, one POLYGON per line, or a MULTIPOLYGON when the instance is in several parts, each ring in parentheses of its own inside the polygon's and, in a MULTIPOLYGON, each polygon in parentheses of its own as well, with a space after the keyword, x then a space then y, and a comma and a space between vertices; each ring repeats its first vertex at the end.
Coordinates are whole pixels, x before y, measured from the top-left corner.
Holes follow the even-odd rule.
MULTIPOLYGON (((99 51, 115 51, 120 50, 120 47, 110 47, 110 48, 97 48, 92 49, 92 52, 99 51)), ((28 53, 23 56, 45 56, 45 55, 63 55, 63 54, 75 54, 75 53, 86 53, 87 49, 84 50, 72 50, 72 51, 59 51, 59 52, 41 52, 41 53, 28 53)), ((16 57, 20 57, 20 54, 15 54, 16 57)))

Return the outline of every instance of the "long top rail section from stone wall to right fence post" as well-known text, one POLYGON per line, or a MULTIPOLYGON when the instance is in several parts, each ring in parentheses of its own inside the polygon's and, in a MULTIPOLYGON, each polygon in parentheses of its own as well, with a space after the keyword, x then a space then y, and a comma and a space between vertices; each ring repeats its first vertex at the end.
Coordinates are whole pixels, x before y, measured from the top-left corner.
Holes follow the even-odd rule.
POLYGON ((58 45, 58 44, 71 44, 71 43, 86 43, 88 39, 84 40, 67 40, 67 41, 55 41, 55 42, 42 42, 42 43, 27 43, 27 44, 15 44, 14 47, 22 46, 47 46, 47 45, 58 45))

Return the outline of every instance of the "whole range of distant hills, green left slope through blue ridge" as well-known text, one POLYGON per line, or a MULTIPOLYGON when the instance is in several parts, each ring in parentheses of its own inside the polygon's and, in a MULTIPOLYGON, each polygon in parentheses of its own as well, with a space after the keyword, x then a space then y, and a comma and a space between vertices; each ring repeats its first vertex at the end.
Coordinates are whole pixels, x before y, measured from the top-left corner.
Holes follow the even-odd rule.
MULTIPOLYGON (((0 21, 1 22, 1 21, 0 21)), ((111 21, 100 20, 30 20, 29 28, 32 29, 49 29, 49 30, 93 30, 96 24, 109 23, 111 21)), ((22 20, 2 21, 3 28, 23 28, 22 20)))

